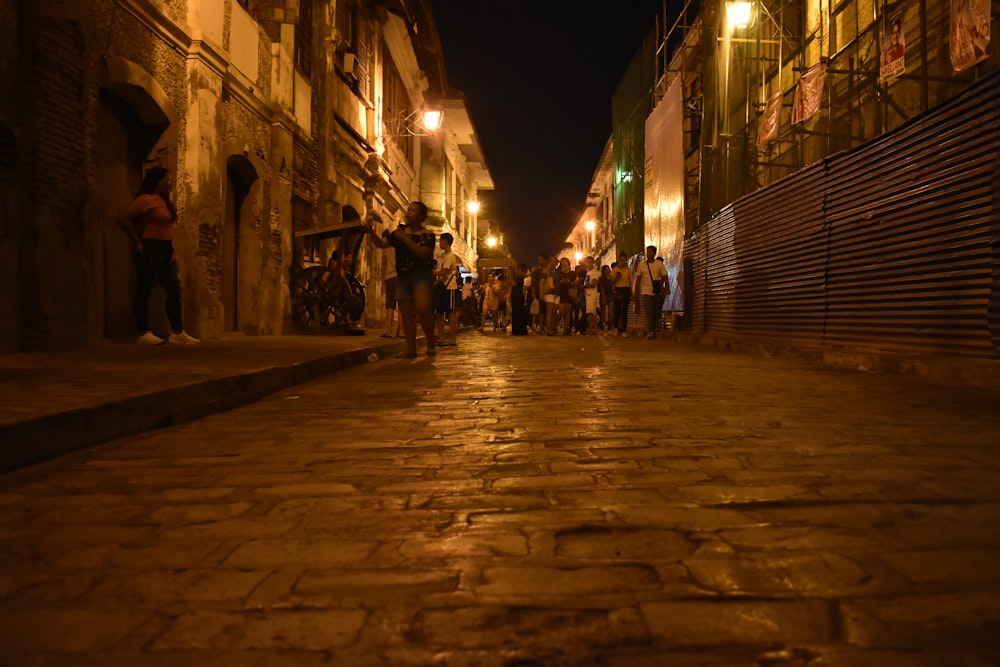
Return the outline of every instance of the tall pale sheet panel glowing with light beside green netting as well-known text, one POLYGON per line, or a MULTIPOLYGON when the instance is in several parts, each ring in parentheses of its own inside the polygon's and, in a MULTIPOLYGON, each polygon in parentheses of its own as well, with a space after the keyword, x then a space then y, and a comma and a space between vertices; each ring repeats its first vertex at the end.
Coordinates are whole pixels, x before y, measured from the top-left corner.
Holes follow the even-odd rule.
MULTIPOLYGON (((666 312, 684 311, 684 105, 681 77, 646 119, 646 187, 643 196, 645 245, 656 246, 670 279, 666 312)), ((629 254, 643 248, 619 248, 629 254)))

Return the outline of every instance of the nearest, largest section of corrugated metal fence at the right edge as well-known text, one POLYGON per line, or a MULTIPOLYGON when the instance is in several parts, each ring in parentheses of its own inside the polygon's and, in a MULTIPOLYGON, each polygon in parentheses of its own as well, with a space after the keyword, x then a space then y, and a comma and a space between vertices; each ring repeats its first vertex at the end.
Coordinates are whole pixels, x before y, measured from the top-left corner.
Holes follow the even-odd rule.
POLYGON ((829 160, 828 345, 992 355, 997 90, 829 160))

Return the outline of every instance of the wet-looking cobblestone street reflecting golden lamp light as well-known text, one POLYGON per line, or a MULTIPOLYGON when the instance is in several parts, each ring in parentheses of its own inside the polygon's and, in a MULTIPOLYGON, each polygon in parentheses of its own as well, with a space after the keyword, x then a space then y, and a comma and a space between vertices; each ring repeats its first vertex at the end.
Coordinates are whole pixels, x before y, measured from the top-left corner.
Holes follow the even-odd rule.
POLYGON ((0 665, 997 665, 998 399, 466 334, 0 476, 0 665))

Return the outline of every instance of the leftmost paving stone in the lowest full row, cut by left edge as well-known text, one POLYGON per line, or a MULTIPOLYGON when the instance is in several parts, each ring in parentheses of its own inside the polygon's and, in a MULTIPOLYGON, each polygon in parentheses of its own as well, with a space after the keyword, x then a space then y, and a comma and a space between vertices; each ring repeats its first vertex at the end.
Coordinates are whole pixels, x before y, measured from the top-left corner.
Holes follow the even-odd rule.
POLYGON ((0 612, 0 659, 6 653, 107 651, 150 617, 141 611, 33 609, 0 612), (39 632, 43 628, 44 632, 39 632))

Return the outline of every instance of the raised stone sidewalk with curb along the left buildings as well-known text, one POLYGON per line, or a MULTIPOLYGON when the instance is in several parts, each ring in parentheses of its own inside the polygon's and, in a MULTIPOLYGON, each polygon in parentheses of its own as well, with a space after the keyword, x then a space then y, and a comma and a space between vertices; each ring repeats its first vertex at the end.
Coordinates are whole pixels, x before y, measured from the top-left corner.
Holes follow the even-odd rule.
POLYGON ((229 410, 402 349, 402 339, 376 330, 0 354, 0 472, 229 410))

